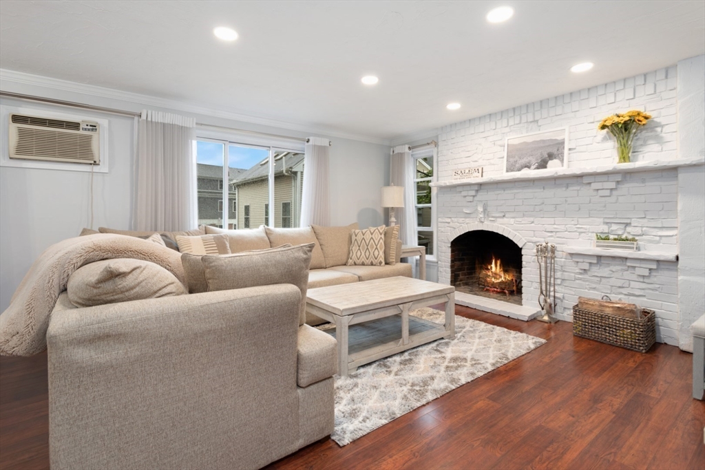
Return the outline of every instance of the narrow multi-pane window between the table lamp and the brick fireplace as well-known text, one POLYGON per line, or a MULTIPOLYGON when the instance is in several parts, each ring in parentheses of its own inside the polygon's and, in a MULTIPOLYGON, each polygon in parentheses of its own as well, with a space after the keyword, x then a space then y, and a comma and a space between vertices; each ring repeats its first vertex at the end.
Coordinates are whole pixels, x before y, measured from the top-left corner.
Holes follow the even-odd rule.
POLYGON ((430 183, 436 180, 436 147, 424 147, 411 152, 415 162, 414 186, 416 192, 416 230, 418 244, 426 247, 426 254, 436 256, 436 190, 430 183))

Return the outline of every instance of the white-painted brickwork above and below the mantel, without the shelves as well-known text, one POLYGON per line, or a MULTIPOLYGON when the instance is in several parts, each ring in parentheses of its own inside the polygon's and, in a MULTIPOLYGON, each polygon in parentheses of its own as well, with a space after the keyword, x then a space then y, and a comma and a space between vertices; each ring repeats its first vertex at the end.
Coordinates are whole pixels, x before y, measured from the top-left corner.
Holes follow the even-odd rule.
MULTIPOLYGON (((508 136, 569 128, 568 166, 615 163, 613 138, 598 131, 609 114, 642 109, 654 119, 635 139, 635 161, 677 158, 676 68, 582 89, 448 125, 439 135, 439 180, 453 170, 483 166, 484 176, 503 174, 508 136)), ((656 310, 657 340, 678 345, 678 263, 567 254, 565 245, 589 245, 595 233, 632 235, 641 249, 676 251, 678 171, 644 171, 570 176, 536 181, 439 187, 439 282, 450 282, 450 242, 465 225, 477 223, 486 203, 487 222, 523 237, 522 302, 537 304, 538 242, 558 246, 557 313, 572 319, 578 296, 635 302, 656 310)))

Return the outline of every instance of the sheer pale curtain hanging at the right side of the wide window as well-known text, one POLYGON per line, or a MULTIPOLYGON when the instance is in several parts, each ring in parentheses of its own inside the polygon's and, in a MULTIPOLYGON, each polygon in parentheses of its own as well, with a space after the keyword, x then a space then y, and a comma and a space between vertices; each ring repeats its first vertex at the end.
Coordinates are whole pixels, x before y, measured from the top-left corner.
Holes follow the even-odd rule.
POLYGON ((329 155, 331 142, 309 137, 304 157, 304 185, 301 190, 301 227, 331 225, 329 197, 329 155))

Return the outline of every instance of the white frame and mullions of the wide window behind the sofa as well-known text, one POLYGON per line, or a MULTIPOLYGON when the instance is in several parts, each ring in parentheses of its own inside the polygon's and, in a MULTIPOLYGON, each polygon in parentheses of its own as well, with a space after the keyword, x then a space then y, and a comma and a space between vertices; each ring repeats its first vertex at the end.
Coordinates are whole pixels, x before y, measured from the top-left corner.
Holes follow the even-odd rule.
MULTIPOLYGON (((291 151, 294 153, 302 154, 305 153, 306 143, 295 138, 292 140, 287 140, 286 138, 278 139, 276 137, 259 137, 255 135, 240 134, 238 132, 216 132, 206 129, 199 129, 196 132, 196 138, 193 141, 193 154, 194 160, 197 161, 197 142, 213 142, 216 144, 223 144, 223 175, 219 187, 222 185, 223 192, 223 209, 228 206, 229 202, 229 192, 230 185, 226 185, 224 182, 228 179, 228 168, 229 168, 229 153, 230 146, 235 145, 237 147, 250 147, 255 149, 266 149, 269 151, 269 156, 267 157, 267 163, 269 164, 269 175, 268 175, 268 204, 274 207, 274 159, 272 158, 277 151, 291 151)), ((196 175, 196 184, 198 177, 196 175)), ((220 189, 219 189, 220 190, 220 189)), ((237 199, 235 199, 237 200, 237 199)), ((248 204, 249 205, 249 204, 248 204)), ((237 211, 235 211, 237 214, 237 211)), ((229 220, 229 215, 226 211, 221 211, 221 217, 223 222, 223 227, 228 226, 231 223, 229 220)), ((244 214, 243 214, 243 225, 244 224, 244 214)), ((249 217, 248 217, 249 218, 249 217)), ((264 225, 269 227, 274 227, 274 211, 269 214, 269 220, 266 220, 264 225)), ((237 225, 237 216, 233 221, 237 225)), ((249 228, 249 224, 243 228, 249 228)))

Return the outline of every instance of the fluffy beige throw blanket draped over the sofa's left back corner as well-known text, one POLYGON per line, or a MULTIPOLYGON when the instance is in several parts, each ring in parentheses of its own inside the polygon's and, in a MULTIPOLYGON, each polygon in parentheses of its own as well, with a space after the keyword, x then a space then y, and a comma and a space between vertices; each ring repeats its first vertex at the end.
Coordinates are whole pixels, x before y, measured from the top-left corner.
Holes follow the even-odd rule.
POLYGON ((49 315, 66 290, 68 277, 85 264, 114 258, 152 261, 186 283, 181 254, 157 243, 103 233, 63 240, 32 264, 0 315, 0 354, 31 356, 47 349, 49 315))

